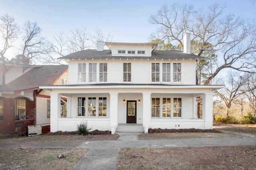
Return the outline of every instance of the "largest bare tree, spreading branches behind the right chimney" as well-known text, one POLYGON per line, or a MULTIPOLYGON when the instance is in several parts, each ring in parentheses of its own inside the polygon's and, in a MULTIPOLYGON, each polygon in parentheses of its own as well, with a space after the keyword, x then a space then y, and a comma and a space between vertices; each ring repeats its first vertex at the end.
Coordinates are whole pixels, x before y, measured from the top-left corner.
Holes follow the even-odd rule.
POLYGON ((160 25, 158 32, 167 41, 178 41, 186 32, 192 33, 192 41, 198 42, 193 54, 201 56, 205 51, 216 51, 219 63, 204 84, 224 68, 242 72, 254 72, 256 63, 256 23, 233 14, 224 16, 225 5, 213 4, 208 8, 194 10, 191 5, 164 5, 150 23, 160 25))

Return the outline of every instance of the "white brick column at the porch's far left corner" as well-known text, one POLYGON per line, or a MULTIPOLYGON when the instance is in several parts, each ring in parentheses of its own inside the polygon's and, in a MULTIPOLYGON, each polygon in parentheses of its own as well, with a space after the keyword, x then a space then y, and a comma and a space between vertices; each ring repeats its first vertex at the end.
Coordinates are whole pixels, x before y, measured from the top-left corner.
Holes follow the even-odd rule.
POLYGON ((60 94, 51 93, 51 132, 58 131, 58 118, 60 118, 60 94))

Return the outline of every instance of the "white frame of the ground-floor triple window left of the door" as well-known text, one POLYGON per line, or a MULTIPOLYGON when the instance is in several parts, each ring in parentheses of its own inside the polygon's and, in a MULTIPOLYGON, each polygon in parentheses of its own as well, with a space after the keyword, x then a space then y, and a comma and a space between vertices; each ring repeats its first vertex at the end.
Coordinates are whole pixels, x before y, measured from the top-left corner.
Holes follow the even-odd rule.
MULTIPOLYGON (((76 104, 77 105, 77 111, 76 111, 76 116, 79 118, 79 117, 86 117, 86 118, 108 118, 109 115, 108 115, 108 96, 104 96, 104 95, 100 95, 100 96, 91 96, 91 95, 86 95, 86 96, 77 96, 77 102, 78 102, 78 98, 85 98, 85 104, 84 104, 84 109, 85 109, 85 113, 84 113, 84 116, 78 116, 78 107, 82 107, 81 106, 78 106, 78 103, 76 104), (96 116, 89 116, 88 115, 88 111, 89 111, 89 106, 88 106, 88 102, 89 102, 89 98, 96 98, 96 116), (99 98, 106 98, 106 116, 100 116, 99 115, 99 98)), ((105 106, 104 106, 105 107, 105 106)), ((82 110, 82 109, 81 109, 82 110)))

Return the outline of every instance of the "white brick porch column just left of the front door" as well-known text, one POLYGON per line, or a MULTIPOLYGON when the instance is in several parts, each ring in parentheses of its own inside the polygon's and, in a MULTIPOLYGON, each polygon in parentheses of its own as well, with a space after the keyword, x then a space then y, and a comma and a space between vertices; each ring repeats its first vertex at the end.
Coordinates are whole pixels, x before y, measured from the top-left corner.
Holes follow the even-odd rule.
POLYGON ((110 127, 111 134, 116 133, 118 113, 118 93, 110 93, 110 127))

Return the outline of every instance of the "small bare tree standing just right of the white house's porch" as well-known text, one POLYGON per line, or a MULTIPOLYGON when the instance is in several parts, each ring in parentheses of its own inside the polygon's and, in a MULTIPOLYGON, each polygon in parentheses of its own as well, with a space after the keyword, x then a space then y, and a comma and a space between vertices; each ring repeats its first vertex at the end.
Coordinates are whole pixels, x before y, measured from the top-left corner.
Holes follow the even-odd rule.
POLYGON ((226 118, 228 118, 229 109, 232 104, 237 102, 237 99, 244 93, 241 91, 242 87, 246 84, 246 77, 240 76, 238 72, 228 72, 225 80, 225 88, 215 91, 214 93, 219 96, 226 106, 226 118))

